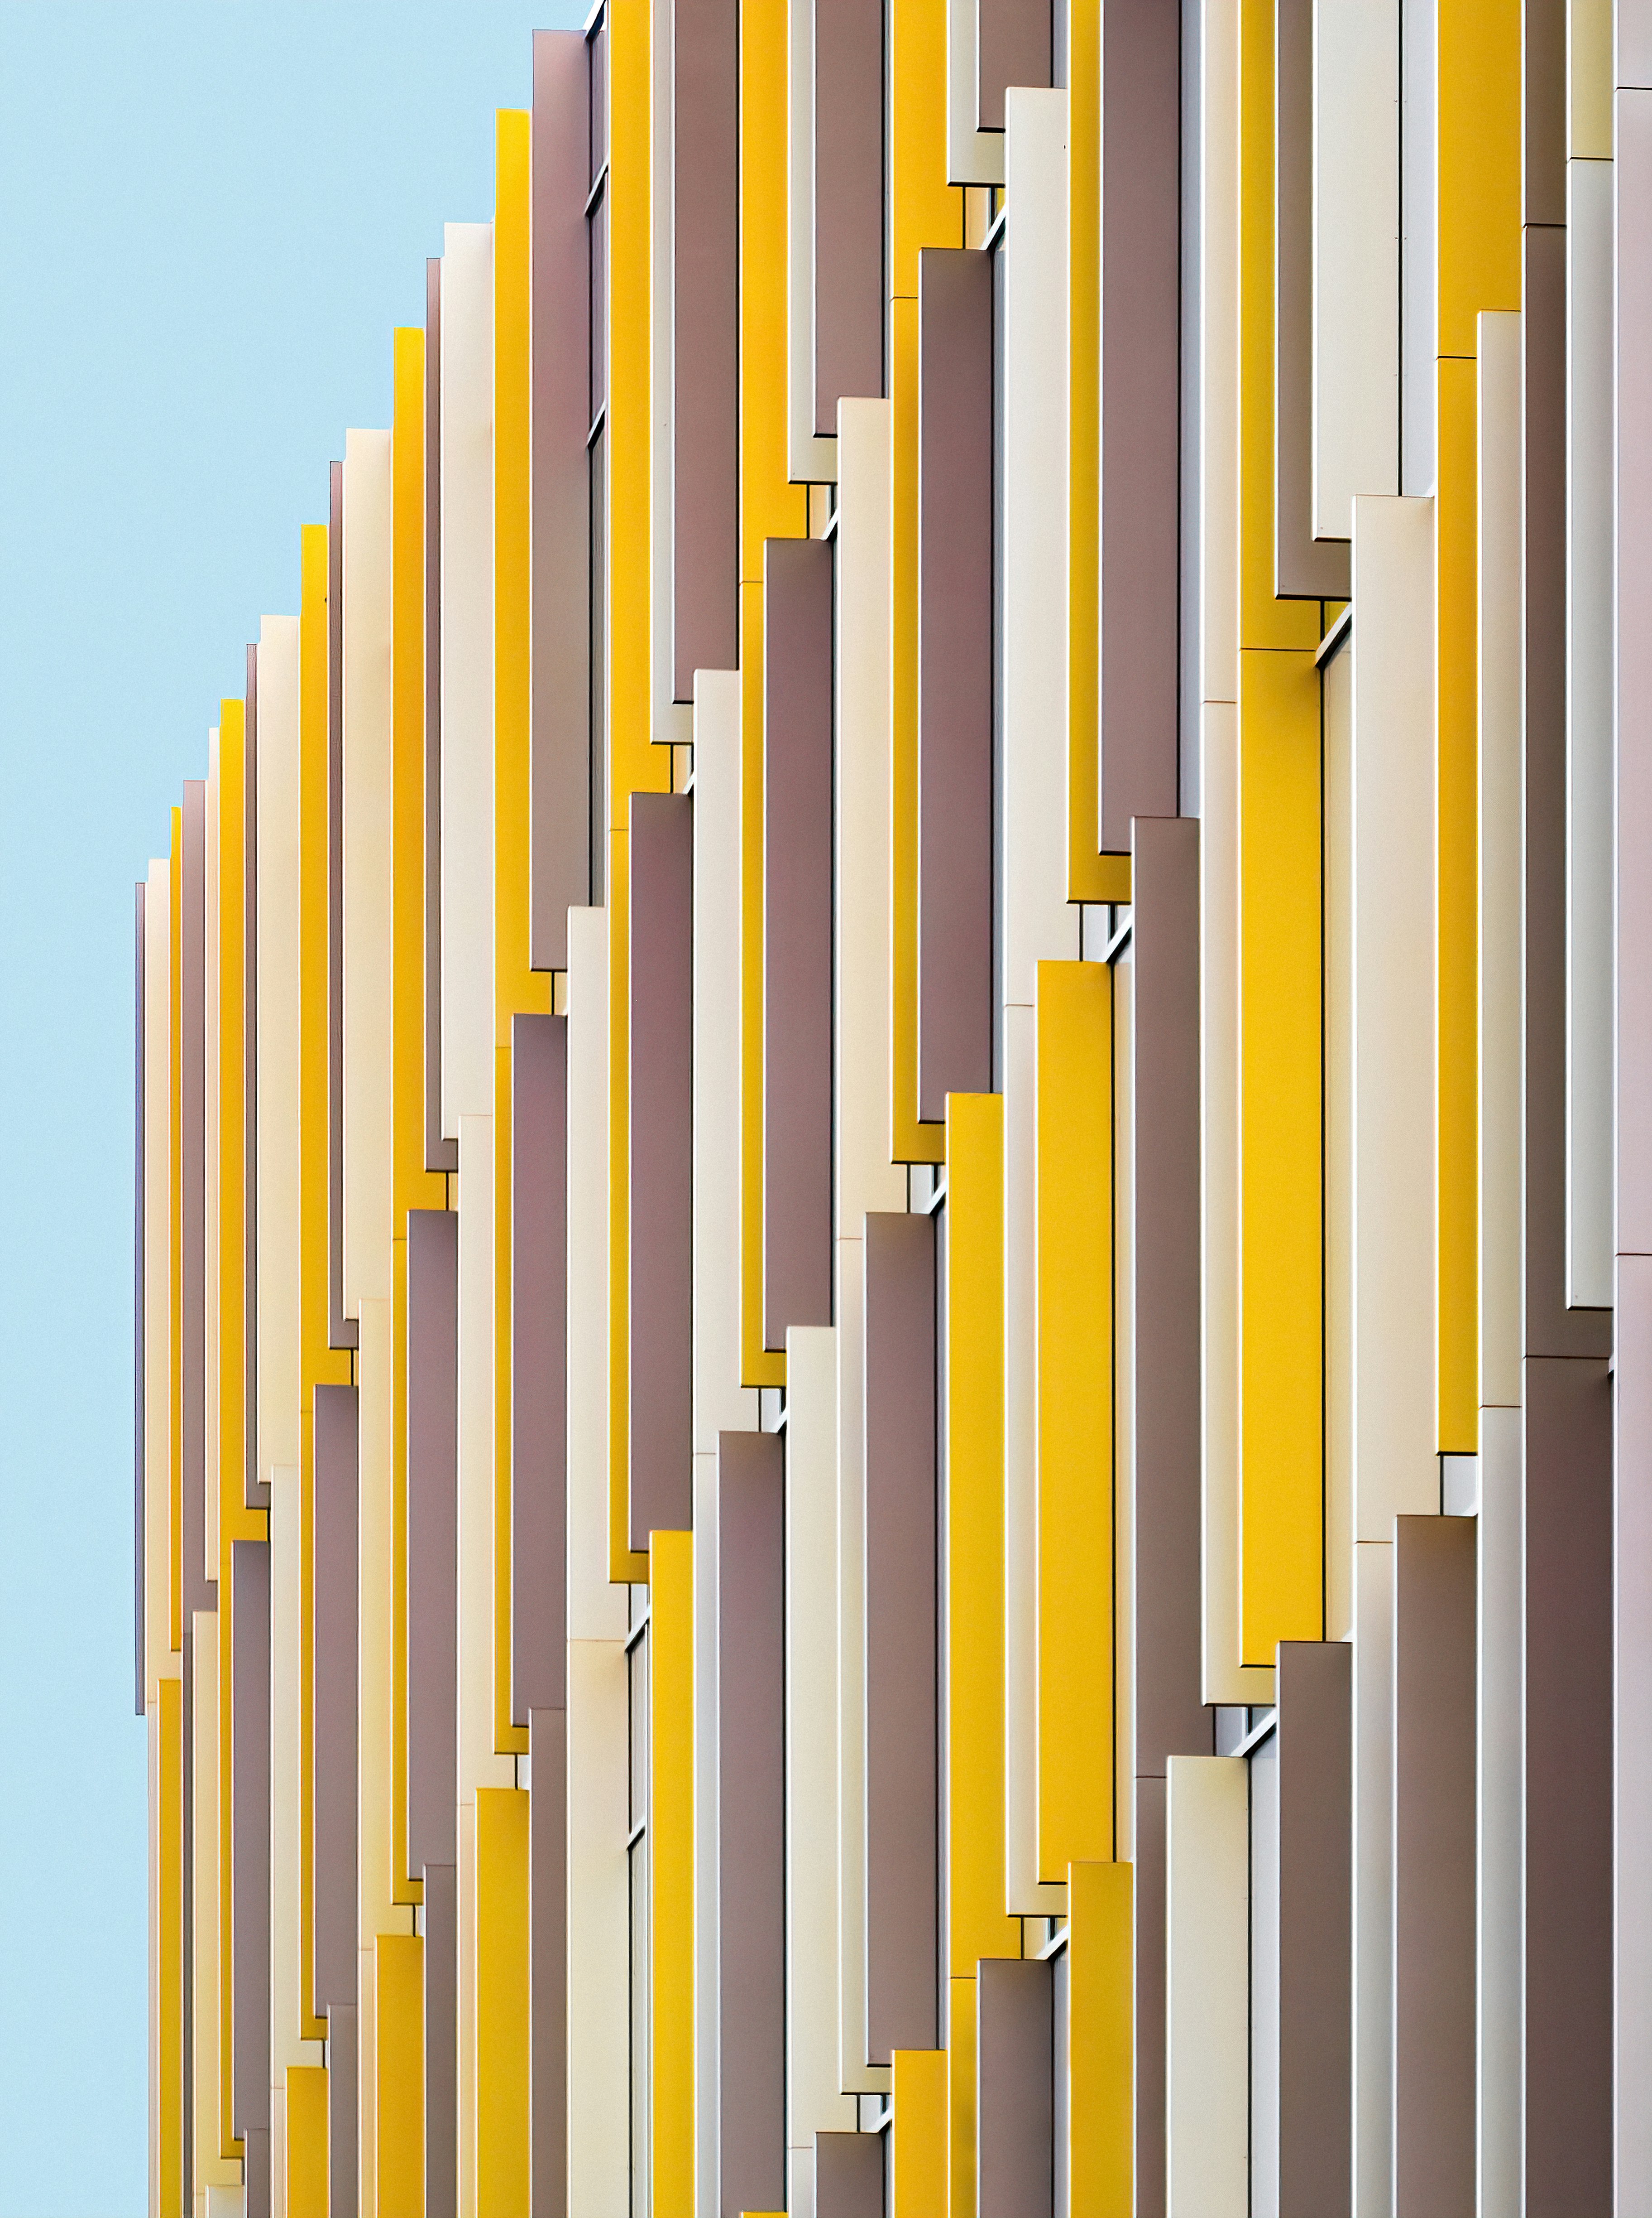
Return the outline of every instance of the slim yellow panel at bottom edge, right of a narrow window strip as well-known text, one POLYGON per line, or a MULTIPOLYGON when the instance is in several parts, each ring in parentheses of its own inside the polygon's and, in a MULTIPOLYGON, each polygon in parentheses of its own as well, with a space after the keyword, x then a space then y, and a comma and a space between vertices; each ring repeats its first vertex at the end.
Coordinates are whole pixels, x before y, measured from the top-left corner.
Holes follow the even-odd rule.
POLYGON ((647 1626, 654 2218, 694 2211, 694 1535, 654 1533, 647 1626))

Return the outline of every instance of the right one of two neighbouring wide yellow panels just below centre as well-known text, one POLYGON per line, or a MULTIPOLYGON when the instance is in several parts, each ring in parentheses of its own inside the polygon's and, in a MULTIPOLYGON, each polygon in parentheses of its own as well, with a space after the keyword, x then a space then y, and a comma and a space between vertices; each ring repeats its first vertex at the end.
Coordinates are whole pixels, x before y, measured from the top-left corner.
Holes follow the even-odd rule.
POLYGON ((1038 965, 1038 1876, 1113 1850, 1113 974, 1038 965))

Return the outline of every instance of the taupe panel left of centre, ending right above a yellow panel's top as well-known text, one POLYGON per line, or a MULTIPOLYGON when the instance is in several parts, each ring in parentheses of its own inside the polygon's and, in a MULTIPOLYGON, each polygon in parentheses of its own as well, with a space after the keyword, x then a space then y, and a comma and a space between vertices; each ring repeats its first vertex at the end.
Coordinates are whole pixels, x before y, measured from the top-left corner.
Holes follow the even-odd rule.
POLYGON ((694 803, 632 794, 630 1546, 694 1517, 694 803))

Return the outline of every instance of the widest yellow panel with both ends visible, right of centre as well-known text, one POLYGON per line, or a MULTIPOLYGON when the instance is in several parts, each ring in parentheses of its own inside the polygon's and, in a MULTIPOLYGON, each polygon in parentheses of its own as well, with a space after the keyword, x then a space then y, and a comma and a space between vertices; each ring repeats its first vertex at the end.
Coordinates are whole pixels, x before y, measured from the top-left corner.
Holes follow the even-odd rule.
POLYGON ((1240 1661, 1324 1632, 1319 672, 1240 654, 1240 1661))

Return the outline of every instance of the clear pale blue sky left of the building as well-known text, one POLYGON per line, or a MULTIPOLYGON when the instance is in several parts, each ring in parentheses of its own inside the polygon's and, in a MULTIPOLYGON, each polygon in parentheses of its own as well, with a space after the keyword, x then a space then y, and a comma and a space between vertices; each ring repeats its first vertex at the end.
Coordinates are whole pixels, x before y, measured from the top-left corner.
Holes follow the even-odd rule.
POLYGON ((146 2209, 131 909, 570 0, 0 0, 0 2218, 146 2209))

